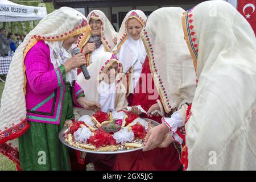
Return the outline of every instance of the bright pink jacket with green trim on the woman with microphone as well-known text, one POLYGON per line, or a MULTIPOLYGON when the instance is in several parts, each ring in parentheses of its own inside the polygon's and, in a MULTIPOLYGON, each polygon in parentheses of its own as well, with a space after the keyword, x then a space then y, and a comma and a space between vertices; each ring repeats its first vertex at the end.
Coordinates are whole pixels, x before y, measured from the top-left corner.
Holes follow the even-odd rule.
MULTIPOLYGON (((26 67, 26 107, 28 121, 59 124, 65 93, 65 68, 54 69, 48 46, 39 41, 28 51, 26 67)), ((74 104, 84 91, 75 82, 72 87, 74 104)), ((76 107, 77 107, 76 106, 76 107)), ((79 106, 80 107, 80 106, 79 106)))

